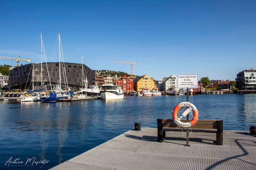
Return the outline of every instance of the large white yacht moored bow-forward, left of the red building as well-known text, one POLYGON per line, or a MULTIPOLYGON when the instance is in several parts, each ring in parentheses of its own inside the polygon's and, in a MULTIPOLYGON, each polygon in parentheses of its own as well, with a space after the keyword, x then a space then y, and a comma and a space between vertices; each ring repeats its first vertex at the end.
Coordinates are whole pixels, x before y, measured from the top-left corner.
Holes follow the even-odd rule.
POLYGON ((100 91, 100 96, 104 100, 122 99, 124 98, 124 93, 121 89, 118 89, 116 85, 102 85, 102 91, 100 91))

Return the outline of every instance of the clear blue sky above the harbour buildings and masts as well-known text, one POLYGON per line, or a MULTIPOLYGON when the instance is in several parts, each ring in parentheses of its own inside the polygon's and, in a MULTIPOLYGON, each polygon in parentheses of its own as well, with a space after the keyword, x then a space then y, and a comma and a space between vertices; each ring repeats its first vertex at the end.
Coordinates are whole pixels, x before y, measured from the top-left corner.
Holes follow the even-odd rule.
MULTIPOLYGON (((233 0, 0 0, 0 56, 40 62, 40 31, 47 61, 61 32, 66 62, 93 70, 154 79, 172 74, 235 79, 256 68, 256 1, 233 0)), ((15 61, 0 59, 0 64, 15 61)), ((25 64, 26 62, 22 62, 25 64)))

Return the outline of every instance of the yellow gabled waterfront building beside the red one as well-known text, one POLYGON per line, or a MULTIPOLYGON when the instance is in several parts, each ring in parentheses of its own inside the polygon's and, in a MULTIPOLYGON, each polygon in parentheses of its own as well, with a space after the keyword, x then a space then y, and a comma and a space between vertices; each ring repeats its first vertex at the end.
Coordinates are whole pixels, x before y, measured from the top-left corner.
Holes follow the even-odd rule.
POLYGON ((137 77, 133 82, 135 91, 142 91, 143 88, 148 88, 149 90, 156 88, 153 77, 148 77, 148 75, 137 77))

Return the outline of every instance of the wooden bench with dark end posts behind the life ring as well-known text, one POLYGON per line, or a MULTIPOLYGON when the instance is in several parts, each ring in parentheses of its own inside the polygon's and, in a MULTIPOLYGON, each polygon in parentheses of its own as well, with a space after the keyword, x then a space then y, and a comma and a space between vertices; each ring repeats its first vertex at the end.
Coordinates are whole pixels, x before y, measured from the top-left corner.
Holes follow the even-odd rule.
MULTIPOLYGON (((180 120, 186 122, 186 120, 180 120)), ((222 120, 198 120, 193 131, 216 133, 216 144, 223 145, 223 121, 222 120)), ((157 142, 163 142, 166 137, 166 131, 182 130, 172 119, 157 119, 157 142)), ((186 128, 183 129, 186 131, 186 128)))

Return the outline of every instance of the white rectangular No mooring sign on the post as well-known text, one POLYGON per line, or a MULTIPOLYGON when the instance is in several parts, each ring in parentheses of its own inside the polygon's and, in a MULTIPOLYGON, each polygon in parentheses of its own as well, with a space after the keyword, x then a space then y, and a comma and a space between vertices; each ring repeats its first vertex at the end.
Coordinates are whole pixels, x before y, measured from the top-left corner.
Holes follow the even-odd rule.
POLYGON ((178 88, 198 88, 198 74, 177 75, 178 88))

